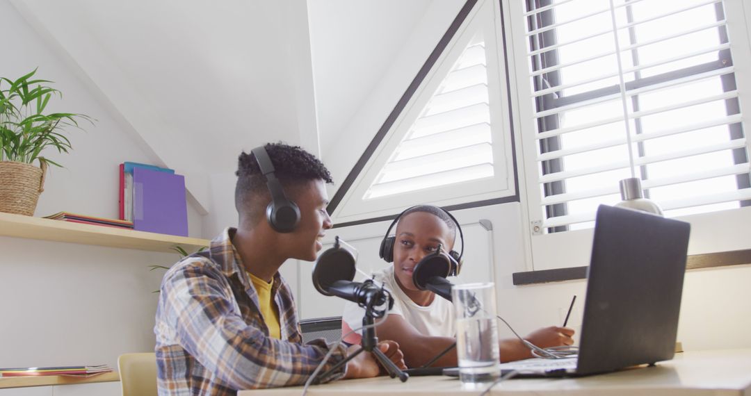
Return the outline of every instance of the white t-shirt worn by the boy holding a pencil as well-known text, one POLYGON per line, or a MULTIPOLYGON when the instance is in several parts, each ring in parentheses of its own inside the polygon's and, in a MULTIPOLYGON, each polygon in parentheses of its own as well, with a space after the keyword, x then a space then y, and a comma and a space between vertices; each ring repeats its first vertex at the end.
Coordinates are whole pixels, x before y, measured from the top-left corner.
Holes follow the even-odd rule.
MULTIPOLYGON (((383 284, 391 296, 394 297, 394 308, 388 311, 389 315, 400 315, 407 323, 417 329, 423 335, 456 337, 457 326, 454 321, 454 305, 450 301, 436 296, 427 307, 415 304, 403 292, 394 279, 394 266, 389 266, 383 271, 373 274, 375 284, 383 284)), ((354 302, 344 305, 344 320, 350 329, 363 326, 365 310, 354 302)), ((378 332, 378 329, 376 329, 378 332)), ((362 334, 362 332, 358 332, 362 334)))

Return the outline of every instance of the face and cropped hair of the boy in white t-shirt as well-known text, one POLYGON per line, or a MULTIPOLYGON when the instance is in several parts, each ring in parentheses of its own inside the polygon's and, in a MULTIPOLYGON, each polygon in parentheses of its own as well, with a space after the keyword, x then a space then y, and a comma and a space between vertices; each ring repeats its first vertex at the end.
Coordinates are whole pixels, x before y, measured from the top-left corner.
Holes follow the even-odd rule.
POLYGON ((403 289, 419 290, 412 282, 412 272, 420 260, 438 250, 439 245, 446 252, 454 248, 451 229, 440 217, 413 211, 400 218, 394 241, 394 277, 403 289))

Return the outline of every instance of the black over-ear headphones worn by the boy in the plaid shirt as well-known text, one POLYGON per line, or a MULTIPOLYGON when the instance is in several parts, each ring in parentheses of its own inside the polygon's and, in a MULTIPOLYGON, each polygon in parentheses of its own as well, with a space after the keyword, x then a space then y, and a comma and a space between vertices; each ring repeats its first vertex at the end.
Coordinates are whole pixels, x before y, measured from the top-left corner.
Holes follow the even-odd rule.
POLYGON ((279 183, 279 179, 274 175, 274 166, 266 148, 261 145, 253 148, 252 153, 271 193, 271 202, 266 207, 266 220, 276 232, 291 233, 300 222, 300 208, 285 196, 282 183, 279 183))

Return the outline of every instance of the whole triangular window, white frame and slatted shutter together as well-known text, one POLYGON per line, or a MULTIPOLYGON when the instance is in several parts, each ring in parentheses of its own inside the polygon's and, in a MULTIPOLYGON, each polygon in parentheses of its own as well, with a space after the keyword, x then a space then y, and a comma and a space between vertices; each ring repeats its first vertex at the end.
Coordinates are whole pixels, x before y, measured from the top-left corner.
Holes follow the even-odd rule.
POLYGON ((336 223, 430 202, 517 200, 499 3, 479 0, 333 210, 336 223))

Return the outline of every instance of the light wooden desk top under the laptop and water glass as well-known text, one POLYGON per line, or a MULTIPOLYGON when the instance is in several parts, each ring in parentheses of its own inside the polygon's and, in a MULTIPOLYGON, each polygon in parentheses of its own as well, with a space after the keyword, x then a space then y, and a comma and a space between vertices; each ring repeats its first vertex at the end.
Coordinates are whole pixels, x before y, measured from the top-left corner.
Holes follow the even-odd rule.
MULTIPOLYGON (((412 377, 406 383, 389 377, 342 380, 311 386, 308 395, 479 395, 449 377, 412 377)), ((713 395, 751 396, 751 350, 716 350, 676 354, 653 368, 566 379, 519 379, 499 383, 490 395, 713 395)), ((238 396, 302 395, 302 387, 242 391, 238 396)))

